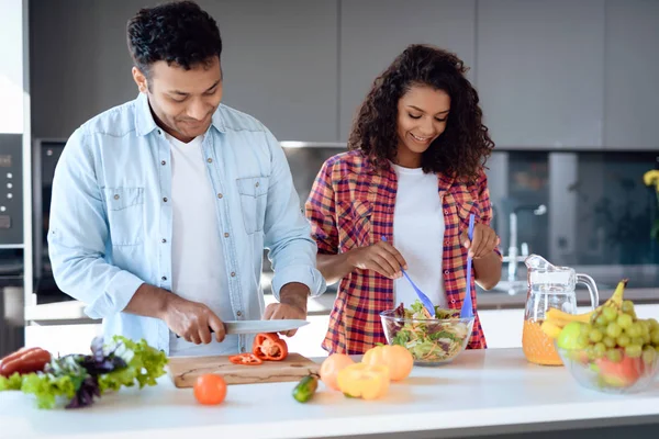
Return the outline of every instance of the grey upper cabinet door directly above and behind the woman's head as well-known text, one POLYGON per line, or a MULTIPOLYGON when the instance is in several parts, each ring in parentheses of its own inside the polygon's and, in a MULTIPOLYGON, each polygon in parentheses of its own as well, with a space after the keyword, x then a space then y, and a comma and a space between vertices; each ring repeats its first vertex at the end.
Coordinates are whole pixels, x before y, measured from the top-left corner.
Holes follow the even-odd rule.
MULTIPOLYGON (((346 142, 353 117, 372 81, 410 44, 428 43, 474 65, 476 1, 360 0, 340 2, 339 132, 346 142)), ((472 78, 473 72, 469 72, 472 78)))

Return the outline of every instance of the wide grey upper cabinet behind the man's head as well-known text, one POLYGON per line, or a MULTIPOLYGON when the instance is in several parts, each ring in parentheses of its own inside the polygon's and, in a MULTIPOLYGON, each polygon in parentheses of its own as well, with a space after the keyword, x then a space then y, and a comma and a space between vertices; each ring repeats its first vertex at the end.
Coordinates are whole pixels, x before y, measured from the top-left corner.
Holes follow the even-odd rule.
MULTIPOLYGON (((158 3, 31 1, 35 137, 66 138, 137 95, 126 21, 158 3)), ((223 40, 223 102, 260 120, 279 140, 336 142, 337 1, 199 3, 223 40)))

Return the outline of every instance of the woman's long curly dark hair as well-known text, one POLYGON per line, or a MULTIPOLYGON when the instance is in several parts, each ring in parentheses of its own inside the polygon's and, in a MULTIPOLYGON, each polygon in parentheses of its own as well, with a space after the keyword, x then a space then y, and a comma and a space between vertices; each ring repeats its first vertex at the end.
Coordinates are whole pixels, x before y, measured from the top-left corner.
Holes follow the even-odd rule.
POLYGON ((468 68, 455 54, 428 45, 409 46, 372 85, 348 138, 349 149, 360 149, 382 169, 396 156, 398 103, 412 86, 429 86, 450 97, 446 130, 423 154, 425 172, 442 172, 476 180, 494 148, 481 122, 478 92, 465 77, 468 68))

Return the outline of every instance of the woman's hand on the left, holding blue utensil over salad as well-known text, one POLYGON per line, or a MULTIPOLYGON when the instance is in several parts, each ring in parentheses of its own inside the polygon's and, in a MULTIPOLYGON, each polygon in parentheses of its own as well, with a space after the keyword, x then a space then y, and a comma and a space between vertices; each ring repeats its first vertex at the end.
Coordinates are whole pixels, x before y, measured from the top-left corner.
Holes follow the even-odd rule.
POLYGON ((373 270, 390 279, 403 275, 401 267, 407 269, 407 262, 399 250, 383 240, 350 250, 347 260, 353 268, 373 270))

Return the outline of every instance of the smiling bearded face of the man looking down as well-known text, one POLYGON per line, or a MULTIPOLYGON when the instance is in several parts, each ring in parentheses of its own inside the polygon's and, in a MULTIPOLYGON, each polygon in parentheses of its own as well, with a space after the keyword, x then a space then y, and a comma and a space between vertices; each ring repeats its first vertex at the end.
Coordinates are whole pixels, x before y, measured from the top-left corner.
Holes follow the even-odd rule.
POLYGON ((157 61, 150 66, 148 79, 133 68, 139 91, 147 93, 156 123, 171 136, 188 143, 203 135, 222 100, 220 59, 185 70, 157 61))

